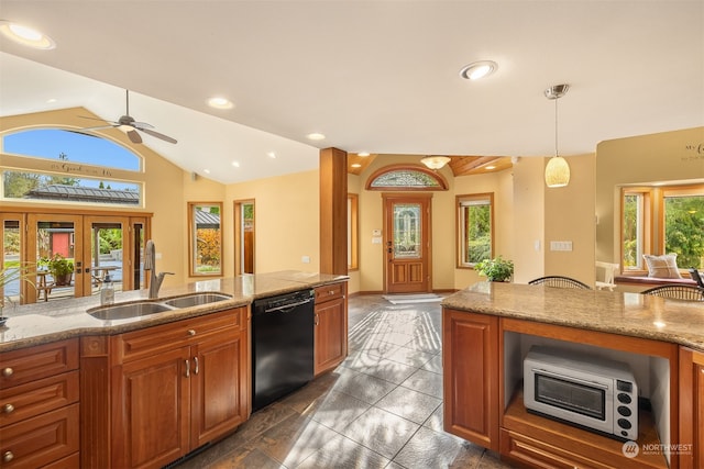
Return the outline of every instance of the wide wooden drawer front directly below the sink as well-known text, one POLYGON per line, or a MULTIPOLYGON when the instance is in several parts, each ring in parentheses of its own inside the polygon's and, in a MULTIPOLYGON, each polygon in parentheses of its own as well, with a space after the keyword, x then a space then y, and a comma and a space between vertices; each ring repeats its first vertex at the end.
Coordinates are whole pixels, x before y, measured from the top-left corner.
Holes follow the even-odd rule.
POLYGON ((246 308, 238 308, 121 334, 111 340, 112 365, 190 345, 215 333, 239 332, 245 313, 246 308))

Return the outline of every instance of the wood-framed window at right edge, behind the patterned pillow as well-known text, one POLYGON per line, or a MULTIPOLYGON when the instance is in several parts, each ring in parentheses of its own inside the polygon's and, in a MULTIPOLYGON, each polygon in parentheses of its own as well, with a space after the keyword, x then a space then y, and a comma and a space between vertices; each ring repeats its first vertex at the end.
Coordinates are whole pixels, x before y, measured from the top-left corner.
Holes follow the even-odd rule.
POLYGON ((646 271, 644 254, 678 255, 680 269, 704 269, 704 185, 622 189, 622 261, 646 271))

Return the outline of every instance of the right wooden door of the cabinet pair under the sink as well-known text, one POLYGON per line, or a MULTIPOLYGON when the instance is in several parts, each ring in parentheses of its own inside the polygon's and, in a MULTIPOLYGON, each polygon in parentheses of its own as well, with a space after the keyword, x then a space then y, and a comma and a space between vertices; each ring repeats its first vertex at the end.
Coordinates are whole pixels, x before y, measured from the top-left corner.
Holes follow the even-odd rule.
POLYGON ((213 337, 191 349, 191 446, 201 446, 248 418, 246 334, 213 337))

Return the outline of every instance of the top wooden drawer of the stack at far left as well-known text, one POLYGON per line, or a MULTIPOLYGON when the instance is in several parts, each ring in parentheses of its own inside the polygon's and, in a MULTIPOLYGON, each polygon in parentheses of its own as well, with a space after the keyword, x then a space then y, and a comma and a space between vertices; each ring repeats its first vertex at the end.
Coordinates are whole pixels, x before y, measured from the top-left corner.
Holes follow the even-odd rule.
POLYGON ((78 339, 0 354, 0 389, 78 369, 78 339))

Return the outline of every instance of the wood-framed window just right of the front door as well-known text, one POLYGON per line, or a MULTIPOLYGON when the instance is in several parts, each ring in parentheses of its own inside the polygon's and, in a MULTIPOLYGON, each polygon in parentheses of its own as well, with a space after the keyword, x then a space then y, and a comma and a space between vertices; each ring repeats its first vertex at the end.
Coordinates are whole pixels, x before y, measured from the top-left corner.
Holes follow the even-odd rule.
POLYGON ((494 194, 457 197, 458 267, 473 267, 494 252, 494 194))

